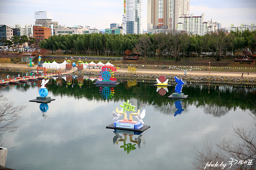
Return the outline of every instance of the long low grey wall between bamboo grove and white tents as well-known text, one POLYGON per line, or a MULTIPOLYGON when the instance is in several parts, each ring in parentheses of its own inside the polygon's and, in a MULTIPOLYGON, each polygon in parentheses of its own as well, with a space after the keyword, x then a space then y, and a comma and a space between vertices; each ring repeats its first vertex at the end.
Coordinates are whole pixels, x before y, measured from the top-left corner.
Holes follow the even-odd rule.
MULTIPOLYGON (((54 56, 54 55, 48 55, 48 56, 44 56, 45 58, 52 58, 52 59, 56 59, 56 58, 61 58, 61 59, 65 59, 65 57, 67 57, 67 60, 72 60, 71 56, 54 56)), ((81 60, 88 60, 88 62, 91 62, 90 60, 108 60, 108 61, 122 61, 123 58, 121 57, 80 57, 80 56, 72 56, 73 59, 75 60, 79 60, 79 58, 81 60)))

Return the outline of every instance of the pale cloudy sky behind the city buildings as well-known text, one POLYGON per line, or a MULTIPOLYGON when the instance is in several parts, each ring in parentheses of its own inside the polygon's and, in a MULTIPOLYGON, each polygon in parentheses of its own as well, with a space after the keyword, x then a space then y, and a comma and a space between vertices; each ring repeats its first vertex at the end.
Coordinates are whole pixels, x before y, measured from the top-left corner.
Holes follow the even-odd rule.
MULTIPOLYGON (((143 29, 147 30, 147 6, 143 0, 143 29)), ((35 11, 53 12, 53 20, 60 25, 91 26, 97 29, 110 27, 110 23, 122 23, 123 0, 0 0, 0 24, 33 25, 35 11)), ((255 0, 190 0, 190 13, 205 21, 220 22, 222 27, 241 23, 256 25, 255 0)))

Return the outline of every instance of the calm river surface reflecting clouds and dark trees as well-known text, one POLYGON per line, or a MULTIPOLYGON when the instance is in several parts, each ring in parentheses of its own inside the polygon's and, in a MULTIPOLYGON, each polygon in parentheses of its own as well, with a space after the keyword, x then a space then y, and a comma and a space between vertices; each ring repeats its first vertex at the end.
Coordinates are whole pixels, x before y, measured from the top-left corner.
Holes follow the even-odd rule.
POLYGON ((186 82, 183 93, 188 98, 180 102, 182 111, 175 107, 176 101, 167 98, 174 92, 174 82, 160 96, 151 86, 155 80, 136 81, 118 79, 118 86, 103 90, 112 95, 104 96, 104 87, 92 84, 94 78, 51 79, 48 96, 56 100, 48 103, 47 112, 41 112, 40 103, 28 102, 39 96, 37 82, 4 87, 9 100, 27 105, 15 124, 19 129, 3 134, 2 147, 8 148, 5 166, 29 170, 193 169, 193 148, 200 150, 203 140, 235 139, 232 125, 255 127, 248 116, 255 111, 249 101, 256 98, 255 84, 186 82), (139 135, 125 138, 120 133, 118 138, 105 128, 113 123, 112 111, 120 110, 119 105, 128 99, 135 110, 146 109, 143 121, 151 126, 142 133, 140 143, 135 139, 139 135), (124 143, 134 148, 124 150, 124 143))

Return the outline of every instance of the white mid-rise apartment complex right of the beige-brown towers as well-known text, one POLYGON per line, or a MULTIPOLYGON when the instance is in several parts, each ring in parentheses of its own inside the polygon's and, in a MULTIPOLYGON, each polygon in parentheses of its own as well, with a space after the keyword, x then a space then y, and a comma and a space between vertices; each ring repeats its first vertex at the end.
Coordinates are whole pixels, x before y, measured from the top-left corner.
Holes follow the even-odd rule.
POLYGON ((190 14, 190 16, 182 15, 182 17, 178 18, 176 29, 187 32, 187 34, 204 35, 208 32, 218 30, 218 26, 221 26, 220 23, 210 20, 205 22, 204 17, 204 13, 202 13, 201 16, 194 16, 194 14, 190 14))

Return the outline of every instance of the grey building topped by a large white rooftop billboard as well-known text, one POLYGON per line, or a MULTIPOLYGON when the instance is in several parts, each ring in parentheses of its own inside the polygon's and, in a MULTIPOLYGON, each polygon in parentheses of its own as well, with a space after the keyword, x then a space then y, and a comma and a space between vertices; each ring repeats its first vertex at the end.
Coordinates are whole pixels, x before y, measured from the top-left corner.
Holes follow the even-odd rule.
POLYGON ((53 34, 55 34, 55 29, 58 29, 58 22, 52 21, 53 13, 48 11, 35 12, 35 24, 42 25, 46 28, 51 28, 51 23, 53 24, 53 34))

